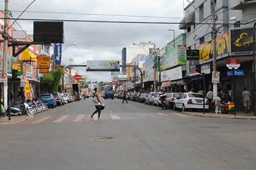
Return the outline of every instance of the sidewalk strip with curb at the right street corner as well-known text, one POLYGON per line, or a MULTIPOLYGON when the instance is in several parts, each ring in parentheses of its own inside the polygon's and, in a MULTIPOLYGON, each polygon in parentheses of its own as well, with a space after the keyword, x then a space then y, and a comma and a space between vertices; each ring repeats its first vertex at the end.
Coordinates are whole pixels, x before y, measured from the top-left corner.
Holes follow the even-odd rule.
POLYGON ((253 113, 245 114, 243 112, 236 113, 236 117, 233 114, 216 114, 216 113, 204 114, 203 112, 192 112, 192 111, 185 111, 182 113, 192 115, 192 116, 201 116, 201 117, 256 120, 256 116, 253 116, 253 113))

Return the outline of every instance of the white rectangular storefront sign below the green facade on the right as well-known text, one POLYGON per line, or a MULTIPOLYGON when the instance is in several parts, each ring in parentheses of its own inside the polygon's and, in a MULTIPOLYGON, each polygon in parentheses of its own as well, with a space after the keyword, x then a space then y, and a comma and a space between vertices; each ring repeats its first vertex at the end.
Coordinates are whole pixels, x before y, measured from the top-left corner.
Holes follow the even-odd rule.
POLYGON ((182 79, 182 66, 161 72, 161 81, 182 79))

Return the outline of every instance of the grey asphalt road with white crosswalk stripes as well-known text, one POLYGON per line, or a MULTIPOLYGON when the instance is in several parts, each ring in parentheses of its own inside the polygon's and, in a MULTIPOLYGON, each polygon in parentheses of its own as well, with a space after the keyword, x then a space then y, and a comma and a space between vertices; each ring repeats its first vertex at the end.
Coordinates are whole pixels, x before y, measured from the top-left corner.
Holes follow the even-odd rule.
POLYGON ((256 122, 91 99, 0 126, 3 170, 255 170, 256 122), (95 116, 97 117, 97 116, 95 116))

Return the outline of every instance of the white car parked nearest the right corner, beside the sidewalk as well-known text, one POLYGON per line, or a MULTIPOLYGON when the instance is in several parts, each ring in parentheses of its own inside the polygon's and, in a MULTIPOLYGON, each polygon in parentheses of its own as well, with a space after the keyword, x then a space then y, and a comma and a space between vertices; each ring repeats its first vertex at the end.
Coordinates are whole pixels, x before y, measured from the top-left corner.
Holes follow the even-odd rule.
POLYGON ((199 93, 183 93, 179 98, 174 101, 174 110, 182 109, 203 109, 203 102, 205 101, 205 109, 209 109, 209 101, 205 99, 202 94, 199 93))

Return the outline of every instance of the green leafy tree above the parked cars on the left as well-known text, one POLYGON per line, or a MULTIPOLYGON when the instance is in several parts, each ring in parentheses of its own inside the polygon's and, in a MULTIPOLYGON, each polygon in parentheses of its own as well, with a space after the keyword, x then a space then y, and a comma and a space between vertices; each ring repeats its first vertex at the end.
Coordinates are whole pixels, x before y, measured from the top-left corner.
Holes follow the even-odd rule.
POLYGON ((61 77, 64 74, 62 68, 56 68, 41 77, 41 90, 46 93, 57 93, 61 85, 61 77))

